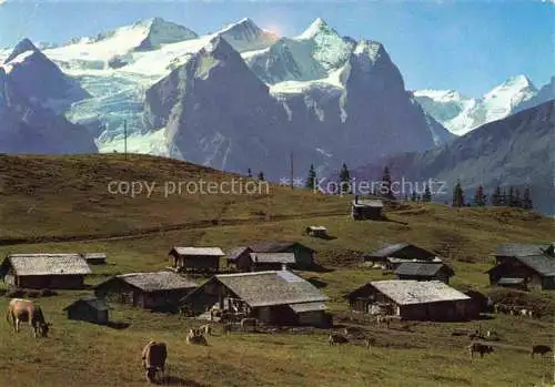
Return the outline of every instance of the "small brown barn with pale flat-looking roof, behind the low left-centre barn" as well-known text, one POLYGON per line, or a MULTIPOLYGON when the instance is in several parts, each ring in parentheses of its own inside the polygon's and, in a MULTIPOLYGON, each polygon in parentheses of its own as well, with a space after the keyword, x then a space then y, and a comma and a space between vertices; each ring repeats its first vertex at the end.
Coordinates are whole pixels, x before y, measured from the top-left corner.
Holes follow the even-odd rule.
POLYGON ((218 272, 223 256, 220 247, 173 247, 169 253, 176 272, 218 272))

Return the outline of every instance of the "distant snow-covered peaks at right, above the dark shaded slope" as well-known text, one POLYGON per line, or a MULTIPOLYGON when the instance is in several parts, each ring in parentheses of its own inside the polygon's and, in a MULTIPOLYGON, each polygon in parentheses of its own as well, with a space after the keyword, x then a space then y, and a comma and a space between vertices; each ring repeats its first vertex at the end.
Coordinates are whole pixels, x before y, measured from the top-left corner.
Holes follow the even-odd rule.
POLYGON ((538 91, 525 75, 511 77, 482 98, 454 90, 415 90, 414 96, 452 133, 462 135, 485 123, 555 99, 554 82, 538 91))

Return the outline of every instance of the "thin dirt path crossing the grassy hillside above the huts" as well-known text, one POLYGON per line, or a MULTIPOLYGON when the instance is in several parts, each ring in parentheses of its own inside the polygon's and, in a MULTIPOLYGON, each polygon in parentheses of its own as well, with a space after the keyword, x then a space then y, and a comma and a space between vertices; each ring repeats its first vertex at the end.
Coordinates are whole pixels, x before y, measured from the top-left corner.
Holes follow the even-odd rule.
POLYGON ((0 246, 13 246, 13 245, 28 245, 28 244, 39 244, 39 243, 64 243, 64 242, 90 242, 90 241, 119 241, 119 240, 133 240, 152 234, 171 232, 171 231, 188 231, 188 230, 202 230, 212 228, 218 226, 234 226, 243 224, 260 224, 260 223, 273 223, 280 221, 291 221, 301 218, 313 218, 313 217, 326 217, 326 216, 347 216, 345 212, 320 212, 320 213, 304 213, 304 214, 291 214, 291 215, 275 215, 275 216, 252 216, 252 217, 241 217, 241 218, 214 218, 189 223, 169 224, 159 227, 145 227, 130 230, 122 233, 98 233, 98 234, 81 234, 81 235, 39 235, 33 237, 22 237, 22 238, 0 238, 0 246))

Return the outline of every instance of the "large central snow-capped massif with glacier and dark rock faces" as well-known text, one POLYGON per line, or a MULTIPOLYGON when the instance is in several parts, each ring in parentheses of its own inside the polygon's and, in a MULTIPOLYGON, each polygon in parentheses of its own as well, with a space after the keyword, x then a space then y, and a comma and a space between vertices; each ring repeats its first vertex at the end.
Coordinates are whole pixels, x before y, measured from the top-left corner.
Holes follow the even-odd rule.
MULTIPOLYGON (((321 19, 281 38, 250 19, 199 37, 155 18, 42 47, 30 50, 88 93, 62 101, 62 115, 100 152, 123 150, 127 125, 130 152, 279 179, 291 153, 299 165, 357 165, 453 138, 405 90, 383 44, 321 19)), ((4 51, 2 67, 18 67, 20 51, 4 51)))

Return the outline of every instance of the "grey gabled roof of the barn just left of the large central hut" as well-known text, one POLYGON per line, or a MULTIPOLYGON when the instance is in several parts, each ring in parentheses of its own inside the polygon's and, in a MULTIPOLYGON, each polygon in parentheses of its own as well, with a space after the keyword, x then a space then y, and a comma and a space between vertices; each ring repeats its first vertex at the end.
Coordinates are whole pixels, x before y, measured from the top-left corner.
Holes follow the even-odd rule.
POLYGON ((196 283, 176 273, 152 272, 117 275, 97 285, 95 288, 101 287, 103 284, 111 282, 114 278, 123 281, 124 283, 128 283, 129 285, 134 286, 143 292, 179 291, 198 287, 196 283))

